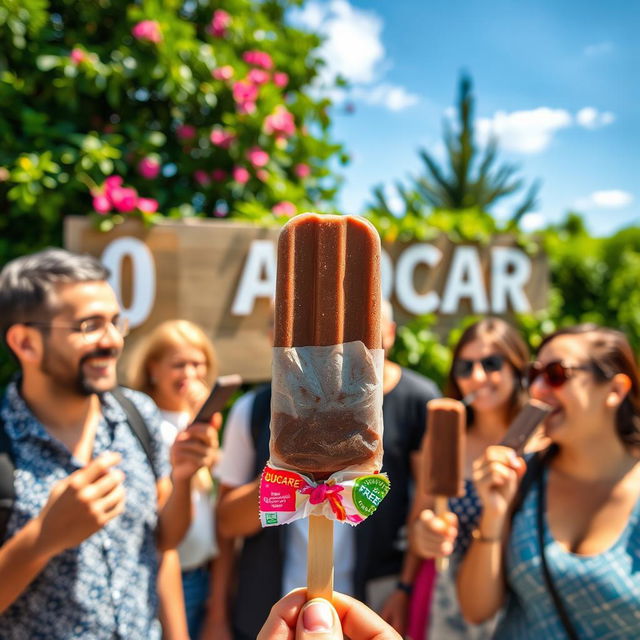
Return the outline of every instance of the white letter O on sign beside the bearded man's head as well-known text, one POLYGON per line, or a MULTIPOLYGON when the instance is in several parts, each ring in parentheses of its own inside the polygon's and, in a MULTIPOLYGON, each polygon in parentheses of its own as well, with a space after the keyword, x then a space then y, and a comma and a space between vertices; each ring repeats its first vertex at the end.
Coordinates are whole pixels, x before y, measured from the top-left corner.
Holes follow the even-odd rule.
POLYGON ((122 315, 129 325, 139 327, 149 317, 156 297, 156 265, 149 247, 137 238, 118 238, 110 242, 102 253, 102 264, 111 271, 109 284, 122 307, 122 315), (131 306, 122 303, 122 261, 129 256, 132 262, 131 306))

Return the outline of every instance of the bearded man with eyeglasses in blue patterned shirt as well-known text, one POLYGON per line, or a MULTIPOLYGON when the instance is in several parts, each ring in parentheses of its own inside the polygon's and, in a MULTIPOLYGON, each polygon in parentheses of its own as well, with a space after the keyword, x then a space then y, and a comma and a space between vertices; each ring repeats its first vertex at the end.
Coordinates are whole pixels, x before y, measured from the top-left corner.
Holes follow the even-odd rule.
POLYGON ((159 551, 190 521, 190 480, 214 455, 193 425, 171 464, 153 402, 123 393, 149 452, 112 393, 128 332, 107 270, 61 249, 0 272, 0 329, 21 375, 0 406, 15 500, 0 540, 0 637, 159 638, 159 551))

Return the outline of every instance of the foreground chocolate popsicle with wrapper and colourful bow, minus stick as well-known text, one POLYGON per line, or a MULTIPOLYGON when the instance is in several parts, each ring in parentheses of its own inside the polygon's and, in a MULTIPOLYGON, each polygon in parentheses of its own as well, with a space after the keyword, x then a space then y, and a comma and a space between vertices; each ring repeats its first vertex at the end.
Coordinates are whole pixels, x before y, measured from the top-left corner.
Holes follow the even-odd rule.
POLYGON ((320 513, 357 524, 386 494, 380 303, 380 238, 368 221, 302 214, 283 227, 263 525, 320 513))

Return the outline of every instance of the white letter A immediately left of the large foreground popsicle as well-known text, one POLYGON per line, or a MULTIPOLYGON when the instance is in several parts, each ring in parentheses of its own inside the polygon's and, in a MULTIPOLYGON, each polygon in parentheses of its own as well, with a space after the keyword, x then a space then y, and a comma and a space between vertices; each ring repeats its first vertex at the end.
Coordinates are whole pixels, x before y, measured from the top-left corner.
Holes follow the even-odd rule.
POLYGON ((234 316, 248 316, 253 311, 256 298, 272 298, 275 289, 276 254, 273 242, 254 240, 249 247, 231 313, 234 316))

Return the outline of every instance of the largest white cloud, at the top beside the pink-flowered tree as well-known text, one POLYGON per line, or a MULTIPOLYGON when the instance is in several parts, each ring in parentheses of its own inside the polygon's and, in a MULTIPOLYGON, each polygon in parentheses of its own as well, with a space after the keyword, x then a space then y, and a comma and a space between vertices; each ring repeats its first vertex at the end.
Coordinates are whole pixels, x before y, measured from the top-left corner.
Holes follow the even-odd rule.
POLYGON ((324 89, 334 102, 361 100, 390 111, 402 111, 419 98, 404 87, 381 82, 385 65, 382 19, 373 11, 352 6, 348 0, 312 0, 303 9, 293 10, 294 23, 320 33, 325 40, 319 54, 326 62, 320 82, 327 87, 336 75, 350 83, 350 89, 324 89))

